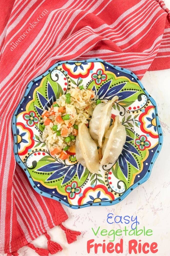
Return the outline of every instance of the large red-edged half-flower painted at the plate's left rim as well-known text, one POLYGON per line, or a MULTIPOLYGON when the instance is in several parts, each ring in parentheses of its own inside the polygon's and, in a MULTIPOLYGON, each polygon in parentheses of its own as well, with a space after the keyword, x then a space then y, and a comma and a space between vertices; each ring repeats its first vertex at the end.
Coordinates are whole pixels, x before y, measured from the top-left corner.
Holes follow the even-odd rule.
POLYGON ((16 123, 16 126, 18 154, 25 155, 28 153, 29 148, 34 146, 33 131, 20 122, 16 123))

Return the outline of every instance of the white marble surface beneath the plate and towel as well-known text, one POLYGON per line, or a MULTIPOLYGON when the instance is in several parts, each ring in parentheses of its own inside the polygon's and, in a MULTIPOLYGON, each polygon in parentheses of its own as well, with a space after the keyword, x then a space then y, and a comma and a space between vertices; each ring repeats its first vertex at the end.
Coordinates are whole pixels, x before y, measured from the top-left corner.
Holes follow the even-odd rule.
MULTIPOLYGON (((77 242, 67 244, 64 232, 55 227, 49 231, 51 240, 54 240, 61 244, 63 251, 57 253, 58 256, 79 256, 79 255, 120 255, 110 253, 94 254, 94 249, 90 254, 87 253, 87 241, 89 239, 95 239, 95 242, 102 242, 106 239, 109 242, 109 238, 101 237, 100 235, 95 237, 92 232, 92 227, 96 230, 98 226, 102 229, 120 229, 125 225, 107 223, 107 214, 113 213, 119 216, 136 216, 140 223, 139 227, 145 226, 147 229, 153 230, 153 235, 150 237, 140 236, 142 242, 157 242, 158 252, 154 255, 169 256, 169 215, 170 215, 170 157, 169 157, 169 145, 170 145, 170 112, 169 112, 169 97, 170 97, 170 69, 162 71, 147 72, 142 79, 142 83, 148 93, 155 99, 158 105, 159 119, 163 129, 164 142, 162 150, 156 159, 153 166, 150 178, 147 182, 140 185, 133 190, 123 201, 119 204, 107 207, 87 207, 83 209, 70 209, 64 206, 69 219, 65 222, 68 228, 73 230, 79 230, 82 235, 78 237, 77 242)), ((126 225, 130 228, 130 225, 126 225)), ((135 239, 135 237, 123 236, 124 251, 121 255, 128 254, 128 241, 135 239)), ((137 239, 137 240, 138 240, 137 239)), ((41 236, 34 240, 34 245, 37 247, 46 248, 46 238, 41 236)), ((115 239, 119 241, 119 237, 115 239)), ((24 246, 19 251, 19 255, 37 255, 32 249, 24 246)), ((135 254, 131 254, 135 255, 135 254)), ((152 253, 138 255, 153 255, 152 253)))

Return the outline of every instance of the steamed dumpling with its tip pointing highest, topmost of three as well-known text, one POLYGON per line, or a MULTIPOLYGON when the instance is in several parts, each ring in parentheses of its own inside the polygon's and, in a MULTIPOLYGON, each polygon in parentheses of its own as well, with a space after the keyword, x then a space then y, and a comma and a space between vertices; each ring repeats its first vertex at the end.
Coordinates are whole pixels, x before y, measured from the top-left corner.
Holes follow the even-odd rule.
POLYGON ((98 143, 99 147, 102 147, 103 137, 109 129, 112 105, 118 99, 119 98, 115 96, 107 103, 99 103, 91 116, 89 132, 91 137, 98 143))

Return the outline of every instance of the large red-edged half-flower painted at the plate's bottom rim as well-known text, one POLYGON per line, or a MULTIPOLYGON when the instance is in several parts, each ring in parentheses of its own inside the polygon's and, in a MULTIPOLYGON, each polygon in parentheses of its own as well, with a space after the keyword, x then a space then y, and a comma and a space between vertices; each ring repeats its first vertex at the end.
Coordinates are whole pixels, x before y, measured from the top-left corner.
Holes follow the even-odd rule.
POLYGON ((94 188, 87 187, 84 190, 83 196, 78 200, 78 205, 100 203, 108 200, 113 201, 114 195, 104 185, 97 185, 94 188))

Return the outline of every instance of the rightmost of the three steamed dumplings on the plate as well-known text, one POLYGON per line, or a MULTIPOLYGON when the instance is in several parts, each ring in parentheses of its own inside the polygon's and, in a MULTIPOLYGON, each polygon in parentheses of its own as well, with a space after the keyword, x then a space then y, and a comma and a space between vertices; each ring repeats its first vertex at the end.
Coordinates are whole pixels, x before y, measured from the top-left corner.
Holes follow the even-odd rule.
POLYGON ((126 142, 125 126, 119 121, 119 116, 115 117, 114 124, 110 126, 105 134, 105 140, 102 147, 101 165, 108 163, 114 164, 122 152, 123 145, 126 142))

